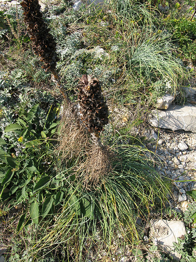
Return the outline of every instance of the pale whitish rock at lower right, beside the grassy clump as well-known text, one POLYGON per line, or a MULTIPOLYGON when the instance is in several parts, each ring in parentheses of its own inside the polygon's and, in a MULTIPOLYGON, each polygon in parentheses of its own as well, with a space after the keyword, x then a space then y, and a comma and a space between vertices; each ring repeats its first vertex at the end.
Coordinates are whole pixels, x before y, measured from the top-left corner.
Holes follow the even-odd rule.
POLYGON ((165 220, 165 219, 151 219, 150 221, 150 237, 156 238, 157 246, 161 250, 170 252, 173 258, 180 261, 181 255, 174 250, 173 242, 178 242, 177 238, 184 236, 186 229, 184 222, 165 220))

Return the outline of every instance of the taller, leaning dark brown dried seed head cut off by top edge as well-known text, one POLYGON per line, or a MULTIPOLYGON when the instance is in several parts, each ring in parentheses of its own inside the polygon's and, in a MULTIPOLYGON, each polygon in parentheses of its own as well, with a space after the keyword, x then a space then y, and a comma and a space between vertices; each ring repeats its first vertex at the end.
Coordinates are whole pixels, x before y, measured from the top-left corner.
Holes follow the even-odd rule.
POLYGON ((38 0, 23 0, 20 4, 24 9, 24 20, 28 24, 27 30, 31 35, 33 49, 44 62, 42 68, 55 71, 58 61, 56 42, 42 18, 38 0))

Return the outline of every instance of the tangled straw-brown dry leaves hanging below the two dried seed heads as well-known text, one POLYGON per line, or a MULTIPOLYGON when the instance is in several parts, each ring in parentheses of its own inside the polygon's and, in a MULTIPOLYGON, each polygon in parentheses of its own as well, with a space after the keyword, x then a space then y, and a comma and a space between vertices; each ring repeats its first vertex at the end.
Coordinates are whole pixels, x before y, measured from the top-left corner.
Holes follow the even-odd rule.
POLYGON ((61 161, 69 163, 78 159, 73 167, 76 179, 87 190, 96 189, 111 171, 112 152, 109 147, 97 143, 81 122, 80 113, 74 104, 65 104, 60 124, 59 147, 61 161))

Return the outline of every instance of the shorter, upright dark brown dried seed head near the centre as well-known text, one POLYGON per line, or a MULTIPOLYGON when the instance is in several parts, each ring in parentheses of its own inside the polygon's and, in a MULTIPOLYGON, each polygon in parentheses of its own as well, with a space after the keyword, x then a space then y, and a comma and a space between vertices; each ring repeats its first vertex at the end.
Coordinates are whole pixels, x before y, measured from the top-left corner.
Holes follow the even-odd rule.
POLYGON ((108 124, 108 106, 98 79, 83 75, 79 80, 78 91, 82 121, 89 132, 99 133, 108 124))

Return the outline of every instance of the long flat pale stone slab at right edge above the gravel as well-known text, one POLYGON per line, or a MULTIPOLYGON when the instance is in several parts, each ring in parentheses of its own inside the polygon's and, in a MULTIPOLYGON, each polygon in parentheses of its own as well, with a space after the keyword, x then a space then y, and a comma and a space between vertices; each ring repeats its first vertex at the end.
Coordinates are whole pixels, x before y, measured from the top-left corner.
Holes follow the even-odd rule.
POLYGON ((196 132, 195 105, 170 105, 167 110, 153 110, 152 115, 149 121, 153 127, 196 132))

